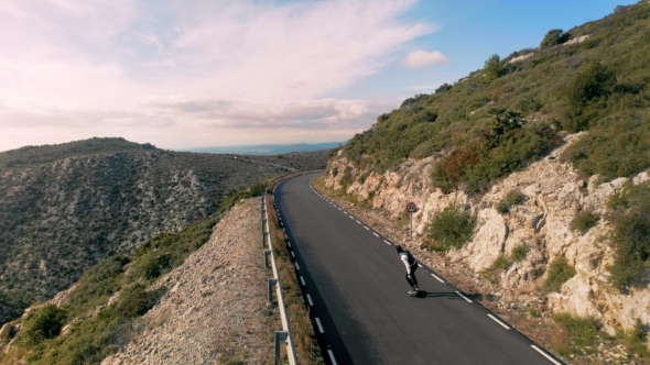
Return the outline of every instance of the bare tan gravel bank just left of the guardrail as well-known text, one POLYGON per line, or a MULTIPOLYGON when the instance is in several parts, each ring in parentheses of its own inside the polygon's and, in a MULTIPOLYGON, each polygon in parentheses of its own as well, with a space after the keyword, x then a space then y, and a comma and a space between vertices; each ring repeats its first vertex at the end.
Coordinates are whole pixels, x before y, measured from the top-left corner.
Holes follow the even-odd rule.
POLYGON ((270 364, 277 310, 267 308, 260 198, 232 208, 209 241, 152 287, 166 287, 138 335, 102 365, 270 364))

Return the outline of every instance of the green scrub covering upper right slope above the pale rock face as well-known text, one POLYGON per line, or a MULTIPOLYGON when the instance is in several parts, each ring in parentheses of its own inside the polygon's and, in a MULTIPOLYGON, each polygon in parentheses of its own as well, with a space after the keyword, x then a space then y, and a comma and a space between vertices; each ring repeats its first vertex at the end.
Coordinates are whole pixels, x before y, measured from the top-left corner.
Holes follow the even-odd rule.
POLYGON ((538 49, 492 55, 483 70, 380 115, 343 147, 345 156, 382 173, 404 158, 451 153, 434 185, 479 191, 548 154, 557 132, 589 131, 565 161, 606 179, 637 174, 650 167, 649 14, 646 2, 618 8, 566 33, 549 32, 538 49), (522 55, 529 57, 510 62, 522 55))

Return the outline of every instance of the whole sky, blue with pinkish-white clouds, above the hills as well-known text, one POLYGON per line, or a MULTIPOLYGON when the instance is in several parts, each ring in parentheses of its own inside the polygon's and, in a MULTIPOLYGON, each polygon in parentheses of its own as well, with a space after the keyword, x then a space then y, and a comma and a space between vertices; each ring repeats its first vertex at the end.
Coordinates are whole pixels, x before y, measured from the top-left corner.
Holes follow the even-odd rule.
POLYGON ((0 151, 338 142, 630 0, 7 0, 0 151))

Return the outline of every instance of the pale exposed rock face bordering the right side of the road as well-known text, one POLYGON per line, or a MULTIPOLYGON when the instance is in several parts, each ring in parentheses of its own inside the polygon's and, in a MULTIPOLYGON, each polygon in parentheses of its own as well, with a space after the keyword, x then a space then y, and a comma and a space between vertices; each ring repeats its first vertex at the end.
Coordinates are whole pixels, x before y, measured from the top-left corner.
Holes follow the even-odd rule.
MULTIPOLYGON (((598 175, 581 177, 571 164, 561 163, 559 156, 584 135, 565 136, 566 143, 545 159, 495 182, 481 195, 468 195, 464 190, 444 193, 434 189, 430 173, 443 156, 408 159, 397 172, 368 175, 340 153, 329 162, 325 186, 336 192, 336 189, 342 189, 344 174, 335 172, 351 170, 354 182, 345 192, 357 209, 369 212, 367 223, 377 225, 401 221, 402 225, 393 232, 397 240, 416 247, 415 251, 429 257, 436 269, 457 274, 448 279, 456 283, 466 280, 464 289, 474 290, 479 298, 494 301, 491 305, 495 308, 514 308, 524 314, 534 313, 537 316, 524 316, 532 321, 541 313, 542 319, 550 321, 550 327, 553 327, 553 313, 567 312, 594 319, 604 331, 615 335, 620 330, 631 331, 638 319, 646 327, 650 324, 650 281, 630 288, 627 294, 613 288, 607 270, 614 261, 609 242, 611 223, 600 219, 584 234, 572 230, 571 223, 578 212, 586 210, 606 218, 609 198, 619 193, 627 181, 647 184, 649 172, 631 179, 618 178, 609 182, 600 182, 598 175), (365 174, 365 180, 358 178, 365 174), (498 202, 514 189, 523 193, 524 200, 511 207, 509 212, 499 213, 496 210, 498 202), (413 214, 413 241, 408 241, 408 228, 403 224, 408 222, 405 206, 410 201, 420 208, 413 214), (451 204, 464 207, 478 219, 472 240, 461 250, 451 250, 447 254, 418 250, 426 247, 423 243, 426 242, 427 224, 451 204), (388 219, 382 220, 382 217, 388 219), (527 248, 526 256, 519 261, 511 259, 518 246, 527 248), (543 284, 549 263, 557 257, 565 257, 576 273, 559 292, 553 292, 544 289, 543 284), (506 259, 507 264, 502 269, 495 269, 499 258, 506 259), (458 269, 453 270, 453 267, 458 269)), ((381 231, 381 228, 378 229, 381 231)), ((530 332, 537 331, 530 324, 522 327, 530 332)), ((552 339, 551 332, 546 333, 546 339, 552 339)), ((622 363, 628 361, 627 356, 620 356, 622 363)), ((600 360, 604 361, 602 356, 600 360)), ((586 357, 578 361, 582 362, 591 363, 586 357)), ((594 363, 599 364, 595 360, 594 363)))

